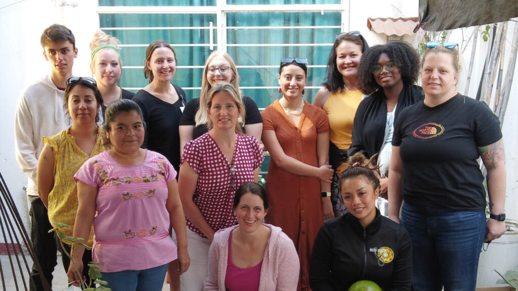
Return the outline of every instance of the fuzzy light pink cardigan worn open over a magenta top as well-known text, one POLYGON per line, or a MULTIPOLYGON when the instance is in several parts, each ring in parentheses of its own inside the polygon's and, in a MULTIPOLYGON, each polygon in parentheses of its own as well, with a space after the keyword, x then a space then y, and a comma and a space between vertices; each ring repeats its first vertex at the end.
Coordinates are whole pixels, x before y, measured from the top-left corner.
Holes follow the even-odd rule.
MULTIPOLYGON (((264 253, 259 291, 294 291, 300 270, 295 245, 280 227, 263 225, 271 229, 271 235, 264 253)), ((225 291, 228 237, 236 227, 221 229, 214 235, 209 250, 209 277, 205 281, 205 291, 225 291)))

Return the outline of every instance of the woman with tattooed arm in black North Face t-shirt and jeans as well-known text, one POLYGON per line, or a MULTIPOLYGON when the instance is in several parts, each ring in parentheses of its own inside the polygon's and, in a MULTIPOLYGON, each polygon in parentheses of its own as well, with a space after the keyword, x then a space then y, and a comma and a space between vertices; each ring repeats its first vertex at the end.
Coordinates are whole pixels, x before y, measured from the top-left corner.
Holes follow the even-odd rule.
POLYGON ((427 43, 424 100, 401 112, 394 127, 389 217, 399 223, 405 200, 401 224, 416 250, 416 291, 474 290, 482 243, 506 230, 500 122, 485 103, 456 92, 459 56, 456 43, 427 43), (487 169, 487 222, 479 157, 487 169))

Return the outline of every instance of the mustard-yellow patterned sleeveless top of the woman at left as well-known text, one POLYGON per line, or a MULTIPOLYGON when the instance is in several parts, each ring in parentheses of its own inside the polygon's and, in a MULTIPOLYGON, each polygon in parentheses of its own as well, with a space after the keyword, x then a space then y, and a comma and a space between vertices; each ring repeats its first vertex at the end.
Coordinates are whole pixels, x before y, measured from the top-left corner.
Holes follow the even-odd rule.
MULTIPOLYGON (((74 174, 87 159, 111 148, 110 144, 104 145, 106 134, 103 127, 99 126, 94 149, 87 155, 79 149, 76 139, 68 134, 69 129, 55 136, 43 138, 43 143, 48 143, 54 151, 54 187, 49 193, 49 221, 53 227, 56 227, 56 222, 70 226, 63 229, 66 236, 72 236, 79 205, 74 174)), ((71 244, 70 241, 63 242, 71 244)), ((87 244, 91 247, 92 243, 93 231, 90 232, 87 244)))

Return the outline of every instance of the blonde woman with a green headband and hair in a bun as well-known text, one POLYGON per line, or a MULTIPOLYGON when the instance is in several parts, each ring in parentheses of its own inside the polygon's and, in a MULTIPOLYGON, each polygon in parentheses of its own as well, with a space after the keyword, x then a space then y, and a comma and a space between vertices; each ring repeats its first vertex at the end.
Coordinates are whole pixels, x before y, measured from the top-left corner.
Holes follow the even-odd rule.
MULTIPOLYGON (((120 98, 131 99, 135 95, 122 89, 120 44, 117 37, 103 31, 96 31, 94 39, 90 42, 90 50, 92 50, 90 70, 97 82, 100 94, 103 95, 102 112, 106 112, 106 107, 111 101, 120 98), (119 82, 119 86, 117 82, 119 82)), ((103 113, 100 114, 101 122, 103 122, 103 115, 103 113)))

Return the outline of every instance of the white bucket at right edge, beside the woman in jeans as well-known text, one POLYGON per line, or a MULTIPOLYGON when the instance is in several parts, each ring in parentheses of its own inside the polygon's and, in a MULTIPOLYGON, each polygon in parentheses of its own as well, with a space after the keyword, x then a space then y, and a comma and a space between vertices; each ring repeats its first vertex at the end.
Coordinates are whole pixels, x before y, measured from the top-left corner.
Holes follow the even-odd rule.
POLYGON ((518 221, 506 219, 506 225, 510 230, 489 245, 484 243, 487 251, 482 250, 480 254, 477 287, 507 286, 496 284, 501 277, 494 270, 502 275, 518 270, 518 221))

